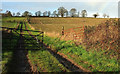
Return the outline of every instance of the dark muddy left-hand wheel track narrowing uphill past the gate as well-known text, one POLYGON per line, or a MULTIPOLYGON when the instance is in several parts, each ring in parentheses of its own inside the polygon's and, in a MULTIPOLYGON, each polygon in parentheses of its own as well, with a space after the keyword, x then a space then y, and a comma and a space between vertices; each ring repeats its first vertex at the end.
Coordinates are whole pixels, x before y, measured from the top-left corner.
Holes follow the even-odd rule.
POLYGON ((31 72, 30 65, 27 59, 27 51, 24 50, 24 38, 22 36, 23 24, 20 23, 20 37, 17 45, 14 48, 12 60, 9 64, 8 72, 31 72))

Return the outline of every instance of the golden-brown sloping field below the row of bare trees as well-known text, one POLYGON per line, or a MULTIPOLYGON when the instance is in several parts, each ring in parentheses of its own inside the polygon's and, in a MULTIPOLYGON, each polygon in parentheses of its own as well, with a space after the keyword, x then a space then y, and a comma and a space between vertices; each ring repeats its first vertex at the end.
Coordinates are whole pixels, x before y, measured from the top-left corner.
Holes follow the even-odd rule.
POLYGON ((64 29, 79 27, 83 25, 98 25, 105 22, 107 18, 31 18, 30 23, 36 30, 44 32, 61 33, 62 27, 64 29))

